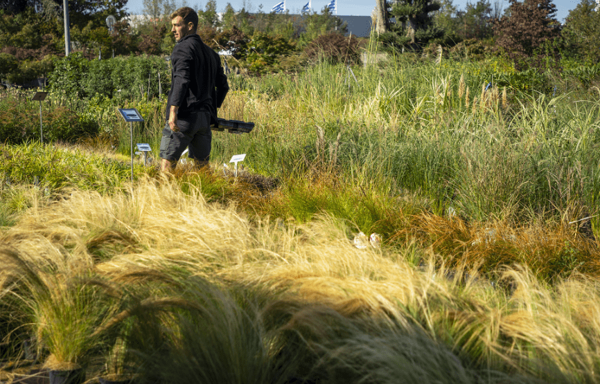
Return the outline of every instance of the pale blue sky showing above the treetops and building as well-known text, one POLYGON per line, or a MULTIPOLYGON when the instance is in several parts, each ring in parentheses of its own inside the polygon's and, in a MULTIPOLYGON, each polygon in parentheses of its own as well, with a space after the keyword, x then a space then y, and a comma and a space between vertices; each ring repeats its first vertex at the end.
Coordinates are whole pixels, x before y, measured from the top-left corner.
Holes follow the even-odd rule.
MULTIPOLYGON (((227 3, 231 3, 234 10, 246 8, 249 12, 258 12, 259 6, 263 6, 263 12, 270 12, 271 8, 281 0, 216 0, 217 11, 222 12, 227 3)), ((320 12, 330 0, 312 0, 312 10, 320 12)), ((458 10, 464 10, 467 1, 477 3, 477 0, 453 0, 452 3, 458 10)), ((508 0, 498 0, 504 7, 509 5, 508 0)), ((491 0, 495 3, 495 0, 491 0)), ((206 0, 176 0, 177 6, 191 6, 195 9, 204 9, 206 0)), ((301 8, 308 3, 308 0, 285 0, 285 6, 290 13, 299 13, 301 8)), ((375 8, 376 0, 337 0, 337 15, 345 16, 371 16, 371 12, 375 8)), ((556 6, 556 19, 563 22, 565 17, 569 15, 569 11, 574 9, 579 0, 554 0, 556 6)), ((143 9, 143 0, 127 1, 127 9, 130 13, 140 14, 143 9)))

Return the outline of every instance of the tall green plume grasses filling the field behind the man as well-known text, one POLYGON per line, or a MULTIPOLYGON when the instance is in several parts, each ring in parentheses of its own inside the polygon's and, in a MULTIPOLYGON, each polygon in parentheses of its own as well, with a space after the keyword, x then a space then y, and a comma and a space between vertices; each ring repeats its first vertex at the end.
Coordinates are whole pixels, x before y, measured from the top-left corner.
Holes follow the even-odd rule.
MULTIPOLYGON (((396 183, 432 199, 437 214, 459 205, 470 220, 500 215, 521 224, 531 214, 560 221, 574 206, 581 214, 567 222, 583 219, 583 211, 597 213, 600 183, 591 165, 598 160, 599 110, 593 102, 510 87, 501 92, 496 83, 486 90, 493 73, 486 63, 415 64, 403 56, 389 58, 385 68, 369 64, 353 71, 352 86, 346 67, 324 62, 294 75, 236 77, 220 116, 253 121, 256 128, 249 135, 215 133, 213 165, 247 153, 244 166, 255 172, 302 177, 321 162, 319 143, 337 143, 333 165, 350 185, 396 183), (506 174, 515 177, 483 154, 506 158, 506 174), (581 183, 573 183, 568 175, 578 168, 581 183)), ((78 102, 78 109, 114 114, 115 105, 100 101, 78 102)), ((164 104, 138 100, 131 106, 147 118, 136 125, 135 140, 151 143, 157 158, 164 104)), ((110 120, 111 135, 125 145, 129 127, 121 120, 110 120)), ((591 226, 593 232, 597 219, 591 226)))

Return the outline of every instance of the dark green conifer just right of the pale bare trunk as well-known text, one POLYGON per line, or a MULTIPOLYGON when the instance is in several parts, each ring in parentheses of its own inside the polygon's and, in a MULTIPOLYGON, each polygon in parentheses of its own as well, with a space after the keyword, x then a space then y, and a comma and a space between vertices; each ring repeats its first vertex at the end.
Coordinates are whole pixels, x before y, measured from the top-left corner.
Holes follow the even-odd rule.
POLYGON ((420 49, 432 39, 443 36, 443 30, 433 22, 432 12, 439 9, 439 3, 433 0, 395 0, 391 3, 389 17, 396 23, 390 26, 391 34, 382 35, 383 42, 420 49))

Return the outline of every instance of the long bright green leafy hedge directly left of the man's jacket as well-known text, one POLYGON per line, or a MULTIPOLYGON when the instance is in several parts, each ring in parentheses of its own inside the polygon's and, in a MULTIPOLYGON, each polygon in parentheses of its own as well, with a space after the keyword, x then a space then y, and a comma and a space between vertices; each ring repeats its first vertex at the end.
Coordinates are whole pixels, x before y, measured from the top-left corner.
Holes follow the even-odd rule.
POLYGON ((159 91, 166 94, 171 81, 169 63, 164 57, 132 55, 87 60, 80 53, 56 60, 48 80, 50 91, 66 98, 103 95, 128 100, 155 98, 159 91))

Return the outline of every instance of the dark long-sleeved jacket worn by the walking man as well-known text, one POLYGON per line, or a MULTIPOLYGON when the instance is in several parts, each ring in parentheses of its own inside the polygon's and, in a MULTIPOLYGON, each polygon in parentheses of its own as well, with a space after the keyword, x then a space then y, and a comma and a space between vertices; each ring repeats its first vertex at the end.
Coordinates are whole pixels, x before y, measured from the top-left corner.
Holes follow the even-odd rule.
POLYGON ((175 44, 171 65, 166 120, 170 106, 175 105, 179 107, 178 117, 185 118, 192 111, 205 109, 211 113, 211 125, 216 124, 217 108, 229 91, 219 55, 200 36, 187 35, 175 44))

